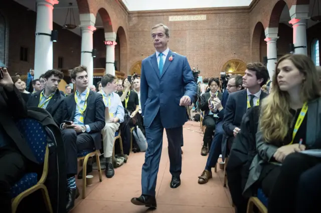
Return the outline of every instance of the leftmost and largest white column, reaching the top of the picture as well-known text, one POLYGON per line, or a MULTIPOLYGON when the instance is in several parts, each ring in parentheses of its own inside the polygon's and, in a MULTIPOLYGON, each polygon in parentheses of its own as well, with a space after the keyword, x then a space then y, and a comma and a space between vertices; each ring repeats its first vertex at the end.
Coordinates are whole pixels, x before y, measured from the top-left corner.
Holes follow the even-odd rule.
POLYGON ((53 68, 53 9, 58 0, 37 0, 35 78, 53 68))

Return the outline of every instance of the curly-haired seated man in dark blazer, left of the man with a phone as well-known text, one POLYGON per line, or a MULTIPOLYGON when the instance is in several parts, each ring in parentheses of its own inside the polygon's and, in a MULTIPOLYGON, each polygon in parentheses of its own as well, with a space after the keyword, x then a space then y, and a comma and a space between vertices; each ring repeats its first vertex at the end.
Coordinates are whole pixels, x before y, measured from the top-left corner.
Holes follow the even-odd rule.
POLYGON ((60 93, 58 89, 58 84, 61 79, 63 79, 63 72, 57 69, 51 69, 44 73, 45 88, 36 93, 33 93, 28 102, 27 106, 35 106, 45 108, 51 116, 54 118, 55 122, 60 124, 61 114, 57 109, 59 108, 64 96, 60 93))

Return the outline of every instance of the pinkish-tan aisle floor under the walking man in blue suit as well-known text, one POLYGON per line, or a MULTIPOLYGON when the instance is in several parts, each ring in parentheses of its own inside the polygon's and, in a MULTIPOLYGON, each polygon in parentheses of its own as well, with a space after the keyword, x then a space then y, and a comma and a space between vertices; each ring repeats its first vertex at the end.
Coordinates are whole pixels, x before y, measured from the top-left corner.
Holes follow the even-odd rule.
MULTIPOLYGON (((153 212, 215 212, 233 213, 231 197, 228 188, 223 187, 223 170, 218 169, 213 178, 206 184, 198 184, 198 176, 202 173, 207 156, 201 156, 203 134, 200 122, 188 121, 184 125, 182 184, 171 188, 171 173, 167 137, 164 131, 164 144, 156 185, 157 209, 153 212)), ((97 170, 94 170, 94 180, 87 186, 87 197, 76 200, 72 213, 100 212, 149 212, 144 206, 136 206, 130 202, 133 196, 141 194, 141 166, 144 162, 144 152, 130 153, 127 163, 115 169, 112 178, 99 182, 97 170)), ((77 180, 79 189, 81 181, 77 180)))

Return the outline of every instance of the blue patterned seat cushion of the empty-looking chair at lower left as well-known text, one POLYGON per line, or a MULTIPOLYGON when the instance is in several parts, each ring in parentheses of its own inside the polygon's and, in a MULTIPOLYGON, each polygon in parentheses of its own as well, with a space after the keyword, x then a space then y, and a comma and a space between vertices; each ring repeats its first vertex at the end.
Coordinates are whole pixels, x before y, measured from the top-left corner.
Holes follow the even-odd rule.
POLYGON ((11 197, 18 196, 21 192, 36 185, 38 182, 37 173, 25 174, 15 185, 11 187, 11 197))

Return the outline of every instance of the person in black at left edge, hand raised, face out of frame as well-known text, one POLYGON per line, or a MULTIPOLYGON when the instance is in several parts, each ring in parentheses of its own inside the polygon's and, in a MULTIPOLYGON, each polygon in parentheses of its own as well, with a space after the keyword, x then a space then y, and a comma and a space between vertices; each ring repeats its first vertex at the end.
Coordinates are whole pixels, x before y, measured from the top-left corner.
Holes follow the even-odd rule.
POLYGON ((38 163, 22 137, 14 119, 27 116, 25 101, 14 86, 7 68, 0 79, 0 206, 11 212, 11 187, 27 172, 27 165, 38 163))

